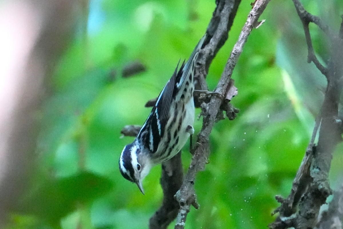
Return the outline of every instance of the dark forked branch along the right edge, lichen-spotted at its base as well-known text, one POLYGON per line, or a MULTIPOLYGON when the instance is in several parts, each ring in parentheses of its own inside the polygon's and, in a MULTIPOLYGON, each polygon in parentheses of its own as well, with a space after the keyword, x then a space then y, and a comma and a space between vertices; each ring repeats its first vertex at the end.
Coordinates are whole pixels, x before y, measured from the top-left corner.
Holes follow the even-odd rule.
POLYGON ((327 77, 327 90, 320 114, 316 118, 311 141, 293 181, 291 194, 287 199, 275 197, 281 206, 274 211, 274 214, 279 212, 280 215, 269 225, 272 229, 289 227, 307 229, 316 226, 319 209, 332 193, 328 180, 332 153, 338 142, 342 140, 342 121, 338 118, 338 104, 342 92, 343 40, 328 32, 329 28, 323 25, 321 19, 309 14, 298 0, 293 0, 293 2, 304 25, 309 58, 316 58, 310 56, 310 53, 314 54, 314 51, 308 30, 309 22, 317 24, 329 36, 332 42, 332 54, 326 69, 321 69, 322 66, 314 61, 317 68, 327 77), (318 145, 315 146, 314 139, 319 126, 318 145))

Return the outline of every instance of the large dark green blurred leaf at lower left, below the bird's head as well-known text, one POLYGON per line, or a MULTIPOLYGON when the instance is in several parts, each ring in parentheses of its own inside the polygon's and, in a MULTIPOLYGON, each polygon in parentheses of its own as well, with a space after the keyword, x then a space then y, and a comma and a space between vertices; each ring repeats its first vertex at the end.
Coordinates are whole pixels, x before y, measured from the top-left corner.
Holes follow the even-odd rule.
POLYGON ((89 172, 61 179, 40 181, 17 206, 21 214, 35 215, 51 226, 78 205, 89 205, 113 188, 113 182, 89 172))

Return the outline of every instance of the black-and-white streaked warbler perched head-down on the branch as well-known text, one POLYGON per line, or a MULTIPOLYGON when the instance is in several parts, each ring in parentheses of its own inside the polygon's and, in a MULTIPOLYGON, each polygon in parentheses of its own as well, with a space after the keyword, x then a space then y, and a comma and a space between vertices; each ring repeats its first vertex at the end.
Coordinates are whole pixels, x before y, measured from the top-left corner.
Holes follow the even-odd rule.
POLYGON ((150 169, 174 157, 194 133, 193 75, 204 39, 205 36, 179 70, 177 64, 139 134, 120 154, 122 176, 136 183, 143 194, 142 180, 150 169))

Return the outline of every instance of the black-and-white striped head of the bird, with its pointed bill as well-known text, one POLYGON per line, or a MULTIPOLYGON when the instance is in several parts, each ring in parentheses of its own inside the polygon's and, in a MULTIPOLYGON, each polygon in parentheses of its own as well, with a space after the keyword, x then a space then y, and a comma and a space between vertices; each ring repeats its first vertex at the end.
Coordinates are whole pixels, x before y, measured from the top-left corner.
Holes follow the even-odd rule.
POLYGON ((119 158, 119 170, 121 175, 133 183, 136 183, 144 195, 142 181, 151 169, 151 163, 147 154, 134 141, 124 147, 119 158))

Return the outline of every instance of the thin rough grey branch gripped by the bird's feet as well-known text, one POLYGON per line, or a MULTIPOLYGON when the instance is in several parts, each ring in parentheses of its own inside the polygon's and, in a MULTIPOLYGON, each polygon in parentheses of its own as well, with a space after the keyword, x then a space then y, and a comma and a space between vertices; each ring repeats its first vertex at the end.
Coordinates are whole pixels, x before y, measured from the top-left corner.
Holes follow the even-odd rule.
MULTIPOLYGON (((238 58, 242 52, 243 46, 247 41, 247 38, 252 30, 252 28, 257 24, 257 20, 259 16, 262 14, 263 10, 267 6, 269 0, 258 0, 255 2, 253 9, 249 13, 248 20, 245 23, 241 34, 239 35, 238 41, 235 44, 230 58, 227 61, 225 69, 222 73, 222 77, 215 89, 216 93, 219 94, 226 94, 227 88, 229 85, 230 77, 232 75, 232 71, 236 66, 238 58)), ((226 1, 223 7, 222 14, 230 14, 233 4, 232 1, 226 1), (227 5, 228 4, 228 5, 227 5)), ((222 20, 223 18, 221 18, 222 20)), ((221 24, 221 23, 219 23, 221 24)), ((223 23, 223 25, 227 25, 223 23)), ((226 27, 226 26, 225 26, 226 27)), ((212 46, 215 41, 220 41, 220 34, 223 34, 221 28, 218 26, 217 31, 214 33, 213 38, 211 39, 209 46, 212 46)), ((218 43, 217 43, 218 44, 218 43)), ((204 50, 210 49, 205 46, 204 50)), ((214 47, 211 50, 215 50, 214 47)), ((210 154, 210 145, 209 145, 209 136, 212 131, 212 127, 216 122, 217 114, 220 111, 220 106, 223 103, 223 98, 221 96, 212 96, 209 103, 201 103, 202 114, 203 114, 203 126, 198 134, 197 144, 194 149, 194 155, 189 166, 188 172, 186 174, 185 180, 182 183, 180 190, 176 194, 176 198, 180 203, 180 210, 177 216, 176 221, 176 229, 182 229, 185 226, 187 214, 190 210, 190 205, 193 205, 195 208, 199 208, 199 204, 197 202, 196 194, 194 192, 194 181, 196 174, 199 171, 204 170, 205 164, 208 161, 208 157, 210 154)))

